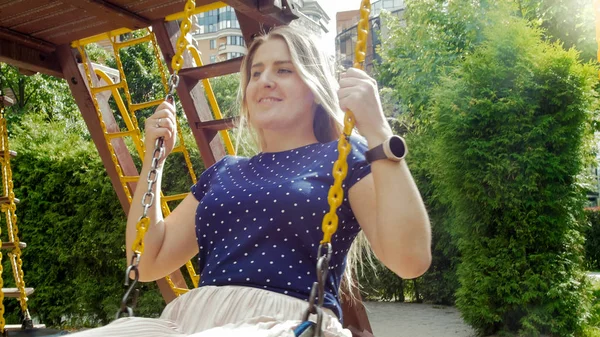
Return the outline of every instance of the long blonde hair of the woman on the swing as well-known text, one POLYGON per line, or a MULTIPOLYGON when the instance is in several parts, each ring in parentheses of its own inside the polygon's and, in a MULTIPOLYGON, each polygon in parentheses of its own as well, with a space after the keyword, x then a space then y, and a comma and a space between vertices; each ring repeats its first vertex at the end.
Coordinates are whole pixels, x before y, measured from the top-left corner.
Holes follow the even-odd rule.
MULTIPOLYGON (((317 109, 313 121, 313 131, 317 140, 321 143, 326 143, 338 139, 343 132, 344 112, 339 107, 337 97, 339 84, 335 78, 333 63, 315 44, 316 37, 305 34, 290 26, 279 26, 273 28, 268 33, 263 33, 255 37, 248 48, 248 53, 242 61, 240 69, 241 79, 238 90, 240 120, 236 143, 239 145, 242 134, 250 131, 255 144, 260 148, 264 145, 260 133, 256 132, 249 123, 246 87, 250 82, 252 59, 256 50, 263 43, 271 39, 281 39, 286 43, 292 64, 315 97, 317 109)), ((347 268, 344 276, 345 290, 357 286, 354 274, 358 263, 362 261, 362 252, 365 249, 370 252, 368 241, 361 232, 348 252, 347 268)), ((370 257, 371 255, 367 254, 367 256, 370 257)), ((353 292, 348 291, 348 293, 352 294, 353 292)))

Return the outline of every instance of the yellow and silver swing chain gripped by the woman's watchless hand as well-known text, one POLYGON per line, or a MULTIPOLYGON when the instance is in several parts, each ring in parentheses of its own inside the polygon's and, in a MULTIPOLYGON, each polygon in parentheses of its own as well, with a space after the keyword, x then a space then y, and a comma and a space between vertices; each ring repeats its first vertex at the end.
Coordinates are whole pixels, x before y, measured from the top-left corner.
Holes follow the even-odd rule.
MULTIPOLYGON (((173 73, 169 77, 169 91, 165 97, 165 101, 169 101, 173 103, 173 95, 175 94, 175 89, 179 84, 179 71, 183 67, 183 53, 185 52, 189 41, 187 40, 187 34, 190 32, 192 28, 192 15, 194 9, 196 8, 196 2, 194 0, 187 0, 185 4, 185 16, 181 21, 180 27, 180 35, 177 39, 177 46, 175 56, 171 61, 171 67, 173 68, 173 73)), ((136 224, 136 238, 133 241, 132 251, 133 255, 131 257, 131 262, 127 270, 125 271, 125 285, 129 286, 123 299, 121 300, 121 308, 117 312, 117 318, 121 316, 121 314, 128 314, 130 317, 133 316, 133 307, 135 307, 137 301, 138 290, 135 289, 135 286, 139 280, 139 269, 138 265, 140 263, 140 259, 142 254, 144 253, 144 237, 146 232, 148 231, 148 227, 150 225, 150 218, 148 217, 148 210, 154 204, 155 193, 153 191, 154 184, 158 179, 158 163, 160 159, 164 156, 165 147, 164 147, 164 139, 158 138, 154 144, 154 153, 152 156, 152 167, 148 172, 148 191, 142 197, 142 206, 144 207, 142 216, 140 220, 136 224), (133 273, 134 279, 131 285, 129 285, 129 276, 133 273), (132 306, 127 305, 127 301, 129 300, 132 292, 135 291, 133 295, 132 306)), ((170 282, 172 283, 172 282, 170 282)), ((171 284, 173 288, 173 284, 171 284)))

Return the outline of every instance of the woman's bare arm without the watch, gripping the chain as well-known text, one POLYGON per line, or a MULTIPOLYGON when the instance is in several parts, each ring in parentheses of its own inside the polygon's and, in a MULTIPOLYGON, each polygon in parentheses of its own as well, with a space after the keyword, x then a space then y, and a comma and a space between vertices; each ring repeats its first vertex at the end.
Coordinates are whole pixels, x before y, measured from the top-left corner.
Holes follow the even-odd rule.
POLYGON ((142 198, 148 192, 148 172, 151 170, 154 144, 157 138, 164 138, 165 153, 159 161, 156 183, 153 184, 154 202, 146 213, 150 224, 144 236, 144 252, 138 269, 140 281, 154 281, 177 270, 198 253, 195 234, 195 217, 198 201, 190 193, 167 217, 163 218, 160 209, 160 186, 163 164, 166 156, 173 150, 176 139, 175 109, 164 102, 156 112, 146 120, 145 146, 140 179, 135 188, 133 201, 127 216, 126 251, 127 263, 133 256, 132 246, 137 236, 137 224, 143 214, 142 198))

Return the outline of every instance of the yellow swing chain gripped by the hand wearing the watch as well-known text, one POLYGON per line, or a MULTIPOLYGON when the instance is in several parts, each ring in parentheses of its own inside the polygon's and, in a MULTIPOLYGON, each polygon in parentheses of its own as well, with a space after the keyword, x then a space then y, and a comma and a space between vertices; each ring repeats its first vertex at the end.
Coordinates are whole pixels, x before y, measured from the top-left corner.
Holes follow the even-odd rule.
MULTIPOLYGON (((362 0, 360 5, 360 20, 358 21, 358 33, 356 47, 354 51, 354 67, 363 69, 363 63, 366 57, 367 38, 369 35, 369 15, 371 13, 371 3, 369 0, 362 0)), ((310 315, 317 315, 314 337, 322 336, 323 311, 322 306, 325 300, 325 282, 329 270, 329 261, 331 260, 332 247, 331 237, 337 231, 338 216, 337 209, 344 200, 344 190, 342 184, 348 174, 348 154, 352 150, 349 142, 350 135, 354 129, 354 114, 347 110, 344 116, 344 131, 338 141, 338 159, 333 165, 334 183, 329 189, 327 200, 329 202, 329 213, 323 217, 322 229, 323 240, 319 245, 317 254, 317 282, 313 284, 310 292, 309 306, 304 312, 303 321, 308 321, 310 315)))

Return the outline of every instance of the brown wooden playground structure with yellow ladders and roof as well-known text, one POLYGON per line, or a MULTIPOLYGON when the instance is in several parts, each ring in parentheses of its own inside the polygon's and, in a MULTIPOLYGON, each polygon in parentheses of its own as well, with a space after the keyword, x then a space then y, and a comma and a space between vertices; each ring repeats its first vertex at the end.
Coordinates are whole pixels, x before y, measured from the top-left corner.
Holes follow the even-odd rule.
MULTIPOLYGON (((157 59, 165 60, 170 72, 171 60, 177 54, 178 39, 181 33, 177 20, 185 18, 182 12, 186 1, 173 0, 119 0, 110 3, 104 0, 63 0, 44 1, 32 6, 21 1, 9 0, 0 5, 0 62, 14 65, 24 74, 36 72, 64 78, 87 124, 92 139, 102 158, 106 171, 111 179, 123 210, 127 213, 139 179, 137 168, 124 137, 130 137, 135 144, 138 155, 146 149, 141 138, 135 112, 160 104, 163 99, 150 102, 132 102, 129 95, 128 82, 119 60, 119 50, 138 43, 150 43, 157 59), (76 13, 76 14, 75 14, 76 13), (75 17, 76 16, 76 17, 75 17), (34 18, 34 19, 32 19, 34 18), (131 31, 144 31, 137 38, 122 38, 123 34, 131 31), (107 75, 102 69, 94 67, 87 59, 85 46, 101 40, 109 40, 115 51, 119 70, 118 81, 107 75), (119 91, 124 93, 125 102, 119 91), (112 97, 118 106, 118 113, 123 119, 126 130, 121 130, 115 119, 115 112, 108 105, 112 97)), ((208 0, 196 1, 192 14, 231 6, 237 15, 246 44, 249 45, 255 34, 277 25, 289 24, 297 18, 293 3, 287 0, 226 0, 214 2, 208 0)), ((183 38, 187 32, 183 31, 183 38)), ((178 71, 180 81, 177 94, 187 117, 191 132, 205 167, 209 167, 225 154, 233 153, 233 146, 226 130, 234 126, 233 119, 222 119, 219 108, 210 88, 209 78, 236 73, 240 69, 241 58, 231 59, 210 65, 203 65, 197 51, 187 48, 184 55, 184 67, 178 71), (202 86, 198 85, 202 82, 202 86), (206 90, 206 97, 204 91, 206 90), (214 112, 214 116, 213 113, 214 112), (220 137, 217 135, 220 134, 220 137)), ((157 64, 162 64, 157 62, 157 64)), ((165 93, 169 91, 169 80, 166 70, 161 69, 165 76, 162 78, 165 93)), ((130 79, 134 81, 134 79, 130 79)), ((0 125, 1 126, 1 125, 0 125)), ((5 128, 3 129, 4 131, 5 128)), ((4 132, 5 133, 5 132, 4 132)), ((4 134, 3 133, 3 134, 4 134)), ((179 133, 181 135, 181 132, 179 133)), ((181 136, 180 136, 181 137, 181 136)), ((2 154, 6 157, 9 149, 3 142, 2 154)), ((189 146, 189 144, 188 144, 189 146)), ((150 149, 151 150, 151 149, 150 149)), ((188 166, 192 181, 196 181, 191 168, 186 144, 179 139, 175 151, 182 152, 188 166)), ((8 158, 8 157, 6 157, 8 158)), ((8 162, 8 160, 5 160, 8 162)), ((3 161, 4 163, 4 161, 3 161)), ((4 167, 4 165, 3 165, 4 167)), ((7 181, 4 186, 12 184, 7 181)), ((6 188, 6 187, 5 187, 6 188)), ((14 194, 5 191, 0 198, 3 210, 14 214, 14 194), (6 200, 4 200, 6 199, 6 200), (12 205, 12 206, 11 206, 12 205)), ((165 196, 162 198, 161 209, 167 215, 170 212, 168 203, 182 199, 185 195, 165 196)), ((9 221, 7 213, 7 221, 9 221)), ((16 223, 16 218, 14 220, 16 223)), ((10 227, 9 227, 10 228, 10 227)), ((16 228, 16 227, 15 227, 16 228)), ((9 229, 9 234, 14 231, 9 229)), ((18 236, 11 234, 10 249, 13 253, 24 246, 19 245, 18 236)), ((3 244, 3 248, 4 244, 3 244)), ((9 254, 11 259, 16 254, 9 254)), ((20 258, 15 261, 20 261, 20 258)), ((21 263, 20 271, 14 273, 16 280, 23 280, 21 263), (20 277, 18 277, 20 275, 20 277)), ((14 269, 14 268, 13 268, 14 269)), ((192 263, 186 264, 193 286, 198 284, 198 275, 193 270, 192 263)), ((20 282, 17 282, 19 285, 20 282)), ((180 271, 158 281, 159 288, 166 302, 185 293, 188 289, 180 271)), ((8 290, 3 289, 3 294, 8 290)), ((22 287, 13 290, 21 298, 24 316, 27 311, 26 296, 33 289, 22 287), (23 289, 21 289, 23 288, 23 289), (23 307, 25 303, 25 307, 23 307)), ((2 296, 2 295, 0 295, 2 296)), ((2 297, 0 297, 2 299, 2 297)), ((0 312, 3 307, 0 307, 0 312)), ((347 300, 344 303, 345 325, 353 327, 353 332, 359 336, 363 331, 371 331, 364 307, 360 303, 347 300)), ((24 321, 25 323, 25 321, 24 321)), ((29 320, 29 325, 30 324, 29 320)), ((3 323, 0 322, 3 326, 3 323)), ((24 324, 25 325, 25 324, 24 324)))

